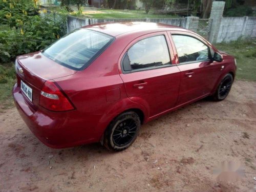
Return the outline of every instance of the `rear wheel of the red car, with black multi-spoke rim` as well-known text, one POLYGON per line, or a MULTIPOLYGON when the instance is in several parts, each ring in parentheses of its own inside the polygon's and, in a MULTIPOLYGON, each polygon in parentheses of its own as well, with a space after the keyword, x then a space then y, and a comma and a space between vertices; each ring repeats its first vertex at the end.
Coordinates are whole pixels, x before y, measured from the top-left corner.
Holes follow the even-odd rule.
POLYGON ((140 118, 133 111, 118 115, 104 133, 104 146, 115 152, 125 150, 137 138, 140 125, 140 118))

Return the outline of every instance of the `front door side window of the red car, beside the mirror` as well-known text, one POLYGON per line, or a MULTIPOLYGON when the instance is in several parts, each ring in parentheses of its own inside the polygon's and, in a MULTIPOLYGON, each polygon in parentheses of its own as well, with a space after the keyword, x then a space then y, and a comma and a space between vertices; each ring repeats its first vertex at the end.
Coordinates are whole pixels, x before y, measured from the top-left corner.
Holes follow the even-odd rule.
POLYGON ((209 59, 209 49, 200 40, 185 36, 172 35, 180 63, 209 59))

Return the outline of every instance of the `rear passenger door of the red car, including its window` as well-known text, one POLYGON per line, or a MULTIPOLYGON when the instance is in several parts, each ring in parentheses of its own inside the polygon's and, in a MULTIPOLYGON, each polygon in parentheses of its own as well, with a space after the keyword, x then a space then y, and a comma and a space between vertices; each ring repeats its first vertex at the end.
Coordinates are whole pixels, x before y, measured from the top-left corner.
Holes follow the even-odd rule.
POLYGON ((127 96, 144 105, 150 117, 173 108, 177 102, 180 71, 171 62, 174 54, 169 48, 166 32, 147 34, 133 40, 120 61, 127 96))

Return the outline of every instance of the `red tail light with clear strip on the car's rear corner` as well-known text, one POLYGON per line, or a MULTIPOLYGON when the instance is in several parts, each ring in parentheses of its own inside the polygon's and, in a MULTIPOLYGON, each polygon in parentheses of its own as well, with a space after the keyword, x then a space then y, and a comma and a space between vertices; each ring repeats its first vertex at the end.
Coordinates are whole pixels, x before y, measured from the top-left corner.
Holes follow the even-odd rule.
POLYGON ((41 90, 39 105, 51 111, 69 111, 74 107, 53 81, 46 81, 41 90))

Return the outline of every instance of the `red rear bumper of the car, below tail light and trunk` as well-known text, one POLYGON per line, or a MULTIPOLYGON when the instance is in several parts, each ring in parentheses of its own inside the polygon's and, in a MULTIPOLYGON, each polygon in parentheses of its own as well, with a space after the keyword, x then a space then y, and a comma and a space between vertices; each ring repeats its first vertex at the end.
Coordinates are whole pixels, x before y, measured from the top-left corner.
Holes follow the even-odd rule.
POLYGON ((40 108, 34 110, 24 97, 15 84, 13 99, 16 108, 32 133, 45 145, 65 148, 99 141, 102 133, 96 134, 94 123, 98 122, 100 116, 92 115, 81 119, 76 111, 49 112, 40 108))

